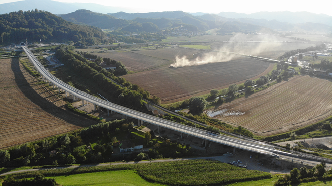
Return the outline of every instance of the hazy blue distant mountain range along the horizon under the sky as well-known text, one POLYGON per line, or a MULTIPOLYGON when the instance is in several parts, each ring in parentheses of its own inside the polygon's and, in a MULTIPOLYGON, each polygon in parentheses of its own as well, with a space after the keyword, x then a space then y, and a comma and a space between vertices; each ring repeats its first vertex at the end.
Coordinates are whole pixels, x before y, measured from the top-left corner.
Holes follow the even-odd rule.
POLYGON ((165 11, 126 13, 124 11, 130 12, 132 10, 108 7, 94 3, 62 3, 53 0, 25 0, 1 4, 0 13, 17 12, 19 10, 31 11, 35 9, 57 14, 73 23, 91 25, 103 29, 124 28, 137 22, 140 24, 134 24, 132 26, 137 27, 138 30, 146 30, 142 28, 143 23, 152 30, 171 28, 172 26, 176 27, 183 24, 186 28, 191 28, 190 30, 192 31, 206 31, 218 28, 220 33, 229 33, 231 31, 258 32, 262 29, 268 32, 271 32, 272 29, 287 32, 329 32, 332 30, 332 16, 310 12, 283 11, 257 12, 253 14, 221 12, 219 14, 205 14, 202 12, 186 13, 183 11, 165 11), (77 10, 81 12, 77 12, 77 10), (89 10, 90 12, 82 10, 89 10), (121 10, 121 12, 119 12, 119 10, 121 10), (108 15, 106 15, 106 12, 108 15))

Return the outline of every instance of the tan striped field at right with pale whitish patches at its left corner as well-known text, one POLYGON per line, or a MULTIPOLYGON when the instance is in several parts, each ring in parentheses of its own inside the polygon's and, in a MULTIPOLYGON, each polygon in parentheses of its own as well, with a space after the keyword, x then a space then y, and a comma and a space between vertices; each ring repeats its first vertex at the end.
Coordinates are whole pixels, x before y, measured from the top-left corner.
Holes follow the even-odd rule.
POLYGON ((295 76, 249 98, 207 111, 213 118, 267 136, 294 130, 332 115, 332 82, 295 76))

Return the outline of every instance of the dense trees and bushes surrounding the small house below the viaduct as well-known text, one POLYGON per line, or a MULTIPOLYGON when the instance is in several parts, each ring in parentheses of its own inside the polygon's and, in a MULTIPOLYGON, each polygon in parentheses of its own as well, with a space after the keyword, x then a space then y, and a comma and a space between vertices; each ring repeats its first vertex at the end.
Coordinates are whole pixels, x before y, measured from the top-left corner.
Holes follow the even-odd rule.
MULTIPOLYGON (((136 121, 135 121, 136 122, 136 121)), ((44 166, 57 167, 69 164, 89 164, 114 161, 188 157, 194 154, 190 144, 181 144, 154 133, 142 132, 133 127, 132 120, 114 120, 91 125, 88 128, 45 140, 26 143, 0 150, 0 167, 44 166), (119 152, 122 141, 135 140, 144 148, 143 153, 119 152), (116 153, 114 149, 116 148, 116 153)))

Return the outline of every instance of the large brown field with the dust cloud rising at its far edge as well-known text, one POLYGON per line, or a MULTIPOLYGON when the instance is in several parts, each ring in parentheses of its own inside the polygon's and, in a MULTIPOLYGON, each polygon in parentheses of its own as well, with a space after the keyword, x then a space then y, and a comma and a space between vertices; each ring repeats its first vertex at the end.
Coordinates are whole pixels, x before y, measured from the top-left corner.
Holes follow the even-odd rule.
POLYGON ((152 70, 128 74, 124 77, 138 84, 164 103, 172 103, 192 96, 222 89, 230 84, 256 79, 272 70, 274 63, 240 58, 222 63, 210 63, 182 68, 162 66, 152 70))

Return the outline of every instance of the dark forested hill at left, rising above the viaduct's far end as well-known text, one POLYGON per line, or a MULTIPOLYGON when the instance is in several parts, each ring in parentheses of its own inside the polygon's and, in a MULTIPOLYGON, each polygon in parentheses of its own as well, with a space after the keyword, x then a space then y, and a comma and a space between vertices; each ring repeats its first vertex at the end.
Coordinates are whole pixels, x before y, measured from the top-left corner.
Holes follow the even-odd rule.
POLYGON ((0 45, 25 42, 68 42, 94 45, 106 38, 97 27, 77 25, 52 13, 18 11, 0 15, 0 45))

